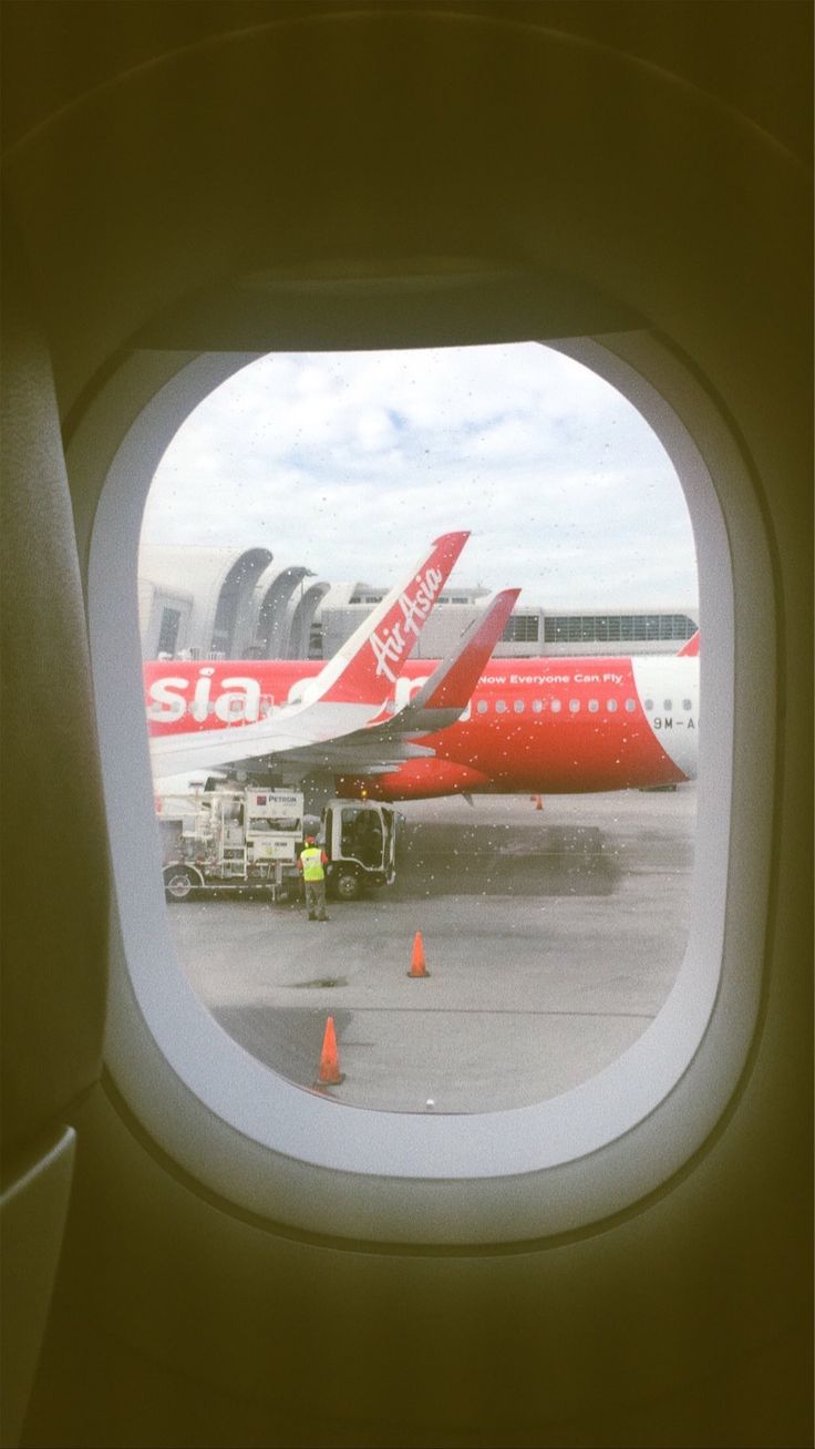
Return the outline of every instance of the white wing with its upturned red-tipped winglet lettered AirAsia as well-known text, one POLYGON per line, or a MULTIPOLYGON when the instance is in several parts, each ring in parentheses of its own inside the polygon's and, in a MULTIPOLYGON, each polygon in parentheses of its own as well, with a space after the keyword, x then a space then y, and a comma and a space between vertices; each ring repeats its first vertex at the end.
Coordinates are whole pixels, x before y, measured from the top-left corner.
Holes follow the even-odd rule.
POLYGON ((408 578, 387 594, 320 674, 305 682, 295 703, 282 704, 256 724, 153 736, 153 777, 278 758, 342 739, 375 720, 468 538, 462 532, 434 539, 408 578))

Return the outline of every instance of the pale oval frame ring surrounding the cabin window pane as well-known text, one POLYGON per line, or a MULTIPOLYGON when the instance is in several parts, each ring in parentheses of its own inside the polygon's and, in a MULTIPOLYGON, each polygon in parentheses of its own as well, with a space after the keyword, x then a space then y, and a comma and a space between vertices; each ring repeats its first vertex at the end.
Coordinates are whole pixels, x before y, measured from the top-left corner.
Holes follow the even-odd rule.
POLYGON ((300 1232, 466 1245, 549 1237, 627 1210, 704 1148, 738 1088, 759 1022, 774 719, 748 704, 774 688, 776 601, 750 461, 704 380, 653 335, 546 345, 617 385, 677 468, 698 545, 701 693, 715 690, 717 710, 706 711, 701 739, 695 909, 676 985, 609 1068, 533 1107, 423 1116, 326 1103, 240 1052, 175 959, 159 872, 143 869, 151 851, 158 859, 158 824, 136 609, 140 517, 184 416, 263 354, 132 352, 90 398, 68 446, 71 472, 104 475, 88 622, 117 897, 110 1081, 191 1181, 233 1210, 300 1232))

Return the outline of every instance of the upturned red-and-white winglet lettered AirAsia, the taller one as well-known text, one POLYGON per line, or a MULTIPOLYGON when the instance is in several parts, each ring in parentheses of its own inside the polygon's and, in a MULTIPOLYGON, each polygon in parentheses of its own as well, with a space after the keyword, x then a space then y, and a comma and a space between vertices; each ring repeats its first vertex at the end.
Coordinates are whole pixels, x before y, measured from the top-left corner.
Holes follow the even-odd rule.
POLYGON ((391 590, 310 681, 304 703, 384 704, 468 539, 469 532, 437 538, 407 581, 391 590))

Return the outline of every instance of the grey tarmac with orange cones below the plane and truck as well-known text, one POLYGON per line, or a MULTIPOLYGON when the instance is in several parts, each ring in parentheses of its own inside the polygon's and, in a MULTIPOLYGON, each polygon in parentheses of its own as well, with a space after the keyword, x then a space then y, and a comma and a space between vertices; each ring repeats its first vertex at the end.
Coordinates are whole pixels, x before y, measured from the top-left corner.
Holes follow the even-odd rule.
POLYGON ((400 809, 397 881, 330 901, 327 923, 262 897, 168 906, 229 1036, 329 1100, 392 1111, 501 1111, 620 1056, 685 952, 695 787, 400 809), (317 1080, 329 1016, 339 1085, 317 1080))

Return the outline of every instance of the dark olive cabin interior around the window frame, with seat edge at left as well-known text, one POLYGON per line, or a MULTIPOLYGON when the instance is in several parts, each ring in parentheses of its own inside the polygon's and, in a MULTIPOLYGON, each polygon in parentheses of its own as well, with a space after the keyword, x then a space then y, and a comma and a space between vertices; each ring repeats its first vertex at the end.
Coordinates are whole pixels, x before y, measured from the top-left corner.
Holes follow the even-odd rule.
MULTIPOLYGON (((809 6, 68 0, 4 29, 4 1443, 809 1443, 809 6), (204 1136, 190 1174, 103 1066, 83 590, 110 459, 198 352, 637 329, 728 420, 773 568, 763 995, 728 1110, 553 1237, 239 1210, 204 1136)), ((337 1172, 339 1216, 356 1193, 337 1172)))

